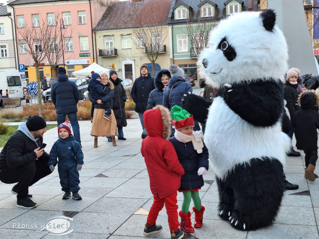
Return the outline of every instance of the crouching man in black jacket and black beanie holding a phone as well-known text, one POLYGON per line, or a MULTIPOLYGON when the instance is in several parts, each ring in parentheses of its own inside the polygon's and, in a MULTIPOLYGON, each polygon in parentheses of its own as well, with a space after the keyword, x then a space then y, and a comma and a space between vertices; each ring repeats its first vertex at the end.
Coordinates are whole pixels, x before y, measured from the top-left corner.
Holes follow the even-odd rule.
POLYGON ((49 154, 40 148, 46 127, 42 117, 29 116, 0 152, 0 181, 5 184, 18 183, 11 190, 17 195, 18 207, 38 206, 30 199, 32 195, 28 194, 29 186, 51 173, 49 154))

